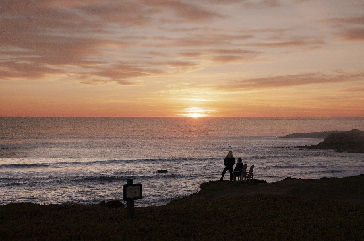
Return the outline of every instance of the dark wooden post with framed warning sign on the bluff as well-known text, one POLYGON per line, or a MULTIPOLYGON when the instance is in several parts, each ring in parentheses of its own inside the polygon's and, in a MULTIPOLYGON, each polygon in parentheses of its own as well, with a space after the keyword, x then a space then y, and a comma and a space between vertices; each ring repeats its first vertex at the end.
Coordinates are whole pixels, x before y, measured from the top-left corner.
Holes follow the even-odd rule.
POLYGON ((123 199, 127 201, 127 217, 134 218, 134 200, 142 199, 143 189, 141 183, 135 183, 133 179, 126 179, 123 185, 123 199))

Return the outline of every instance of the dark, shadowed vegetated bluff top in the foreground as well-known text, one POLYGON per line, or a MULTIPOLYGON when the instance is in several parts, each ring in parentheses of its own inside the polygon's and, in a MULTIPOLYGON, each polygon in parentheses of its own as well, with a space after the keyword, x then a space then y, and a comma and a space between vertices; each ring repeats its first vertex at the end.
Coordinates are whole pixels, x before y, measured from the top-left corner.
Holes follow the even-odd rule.
POLYGON ((170 204, 135 208, 133 220, 127 220, 125 208, 7 204, 0 206, 0 236, 1 240, 363 240, 363 187, 363 174, 253 185, 211 181, 199 193, 170 204), (286 187, 286 193, 277 184, 286 187))

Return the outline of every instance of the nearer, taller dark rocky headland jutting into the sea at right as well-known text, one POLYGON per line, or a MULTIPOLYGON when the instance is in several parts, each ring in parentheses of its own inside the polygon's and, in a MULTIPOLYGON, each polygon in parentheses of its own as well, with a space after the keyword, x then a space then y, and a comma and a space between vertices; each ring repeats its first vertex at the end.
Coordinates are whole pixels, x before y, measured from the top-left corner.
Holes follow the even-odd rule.
POLYGON ((296 146, 296 148, 334 149, 346 151, 364 151, 364 131, 353 129, 328 135, 323 142, 312 146, 296 146))

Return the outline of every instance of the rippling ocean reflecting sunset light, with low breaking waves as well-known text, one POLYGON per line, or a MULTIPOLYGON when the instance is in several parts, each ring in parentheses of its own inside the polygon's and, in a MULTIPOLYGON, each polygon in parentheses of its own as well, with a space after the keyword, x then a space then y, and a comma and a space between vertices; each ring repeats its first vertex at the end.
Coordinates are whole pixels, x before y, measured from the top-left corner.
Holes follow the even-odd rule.
POLYGON ((230 150, 268 182, 359 175, 364 153, 299 150, 323 139, 281 138, 354 128, 364 118, 0 117, 0 204, 122 200, 132 178, 143 185, 135 206, 163 205, 218 180, 230 150))

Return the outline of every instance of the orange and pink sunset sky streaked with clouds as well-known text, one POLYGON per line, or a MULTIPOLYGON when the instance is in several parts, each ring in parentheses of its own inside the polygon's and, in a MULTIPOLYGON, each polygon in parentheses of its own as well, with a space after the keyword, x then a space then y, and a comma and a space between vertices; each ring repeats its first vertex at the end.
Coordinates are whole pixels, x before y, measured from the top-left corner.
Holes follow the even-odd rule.
POLYGON ((0 0, 1 116, 364 116, 364 0, 0 0))

